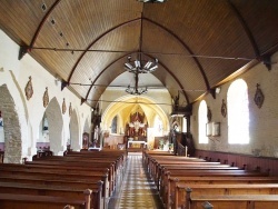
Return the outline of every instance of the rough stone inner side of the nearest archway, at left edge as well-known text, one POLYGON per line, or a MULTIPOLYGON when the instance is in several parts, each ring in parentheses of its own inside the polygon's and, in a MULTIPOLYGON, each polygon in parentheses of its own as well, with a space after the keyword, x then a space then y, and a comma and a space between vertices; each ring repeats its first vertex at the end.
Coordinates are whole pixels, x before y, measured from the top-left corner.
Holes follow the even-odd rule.
POLYGON ((7 88, 0 87, 0 110, 3 118, 4 162, 20 163, 22 155, 21 127, 16 103, 7 88))

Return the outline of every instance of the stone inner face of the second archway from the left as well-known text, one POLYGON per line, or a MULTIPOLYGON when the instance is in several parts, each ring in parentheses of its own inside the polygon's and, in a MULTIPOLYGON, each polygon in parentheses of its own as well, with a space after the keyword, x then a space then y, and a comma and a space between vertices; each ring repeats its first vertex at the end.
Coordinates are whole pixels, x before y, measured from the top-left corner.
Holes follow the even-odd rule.
POLYGON ((48 118, 48 129, 49 129, 49 142, 50 150, 54 155, 59 151, 63 151, 62 147, 62 113, 57 98, 52 98, 46 109, 46 116, 48 118))

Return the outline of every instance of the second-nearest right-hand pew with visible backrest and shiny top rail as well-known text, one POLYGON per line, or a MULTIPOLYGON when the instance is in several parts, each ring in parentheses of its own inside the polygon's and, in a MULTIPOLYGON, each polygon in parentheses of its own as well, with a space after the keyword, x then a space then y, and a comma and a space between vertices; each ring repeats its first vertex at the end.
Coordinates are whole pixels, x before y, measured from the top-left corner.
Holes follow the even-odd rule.
POLYGON ((176 186, 171 208, 189 208, 192 196, 234 196, 234 195, 278 195, 278 183, 230 183, 230 185, 187 185, 176 186))

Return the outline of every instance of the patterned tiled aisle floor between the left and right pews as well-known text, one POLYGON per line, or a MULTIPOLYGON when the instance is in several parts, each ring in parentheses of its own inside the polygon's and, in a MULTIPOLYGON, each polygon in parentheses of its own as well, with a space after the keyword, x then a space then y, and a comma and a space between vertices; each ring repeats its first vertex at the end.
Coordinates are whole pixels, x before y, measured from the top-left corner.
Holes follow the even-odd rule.
POLYGON ((109 209, 163 209, 153 181, 145 172, 140 152, 129 152, 121 188, 110 199, 109 209))

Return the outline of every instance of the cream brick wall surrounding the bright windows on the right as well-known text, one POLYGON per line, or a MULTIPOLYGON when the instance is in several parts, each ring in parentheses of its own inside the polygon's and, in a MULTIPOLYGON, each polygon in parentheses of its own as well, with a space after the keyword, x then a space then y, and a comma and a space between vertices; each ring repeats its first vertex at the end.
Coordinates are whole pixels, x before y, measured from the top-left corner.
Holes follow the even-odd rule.
MULTIPOLYGON (((222 99, 227 101, 227 91, 231 82, 221 86, 221 91, 216 99, 208 94, 205 97, 207 104, 211 109, 212 121, 220 122, 220 137, 214 137, 208 145, 198 143, 198 108, 199 102, 193 104, 191 117, 191 132, 193 135, 197 149, 216 150, 234 153, 255 155, 255 150, 260 156, 278 158, 278 53, 272 56, 274 62, 271 71, 259 63, 239 78, 244 79, 248 86, 249 97, 249 132, 250 142, 248 145, 229 145, 227 119, 221 115, 222 99), (254 102, 256 84, 259 83, 265 96, 262 107, 259 109, 254 102)), ((229 104, 227 103, 227 107, 229 104)))

